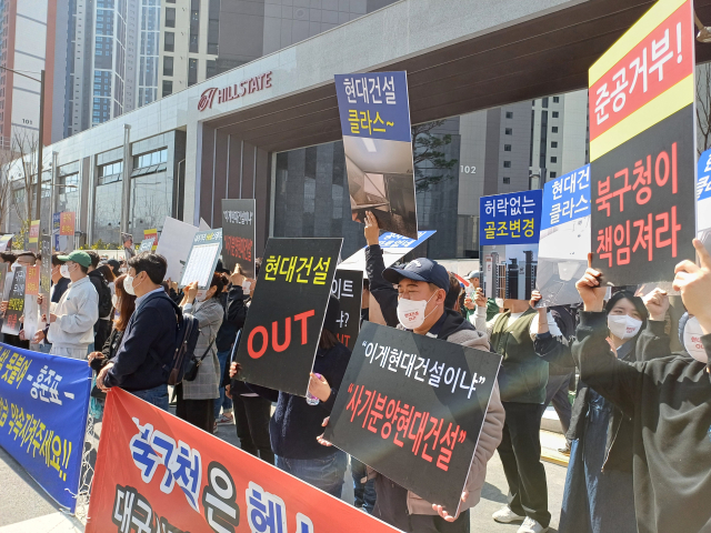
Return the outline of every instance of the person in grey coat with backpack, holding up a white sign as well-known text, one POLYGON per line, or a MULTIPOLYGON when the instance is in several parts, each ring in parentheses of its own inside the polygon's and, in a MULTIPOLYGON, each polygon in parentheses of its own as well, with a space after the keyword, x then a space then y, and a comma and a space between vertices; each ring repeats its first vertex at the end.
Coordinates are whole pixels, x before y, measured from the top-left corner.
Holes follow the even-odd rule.
POLYGON ((224 278, 216 273, 212 275, 210 288, 200 298, 198 282, 186 286, 180 303, 183 313, 191 314, 200 324, 200 336, 194 350, 194 358, 200 366, 193 381, 183 380, 176 386, 176 415, 209 433, 213 430, 214 400, 220 398, 222 378, 214 341, 224 319, 224 310, 219 300, 223 286, 224 278))

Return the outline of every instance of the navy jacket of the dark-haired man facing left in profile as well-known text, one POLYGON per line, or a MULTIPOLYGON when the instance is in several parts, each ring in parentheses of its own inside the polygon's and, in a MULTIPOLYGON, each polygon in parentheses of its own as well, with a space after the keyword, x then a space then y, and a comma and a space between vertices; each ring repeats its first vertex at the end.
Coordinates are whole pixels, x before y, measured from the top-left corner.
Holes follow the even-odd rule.
POLYGON ((144 391, 166 383, 176 349, 177 316, 164 291, 150 294, 133 311, 123 343, 111 359, 107 374, 109 386, 127 391, 144 391))

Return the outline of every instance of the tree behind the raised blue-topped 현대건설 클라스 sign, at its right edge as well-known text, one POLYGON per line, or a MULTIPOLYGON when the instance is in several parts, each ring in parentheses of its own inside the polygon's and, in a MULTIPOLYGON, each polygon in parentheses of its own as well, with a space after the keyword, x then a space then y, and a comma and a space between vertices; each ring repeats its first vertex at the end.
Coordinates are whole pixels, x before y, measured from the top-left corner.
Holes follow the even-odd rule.
POLYGON ((443 147, 451 144, 452 135, 434 134, 432 130, 441 127, 445 121, 435 120, 412 127, 412 157, 414 161, 414 189, 415 192, 424 192, 430 187, 445 179, 452 179, 450 172, 459 162, 457 159, 447 159, 443 147))

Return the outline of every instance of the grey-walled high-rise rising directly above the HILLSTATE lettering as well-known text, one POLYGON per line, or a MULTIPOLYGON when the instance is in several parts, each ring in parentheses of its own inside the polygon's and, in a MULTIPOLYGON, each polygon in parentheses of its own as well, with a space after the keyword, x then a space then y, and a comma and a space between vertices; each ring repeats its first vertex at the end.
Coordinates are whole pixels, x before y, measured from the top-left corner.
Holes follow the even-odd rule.
POLYGON ((163 0, 161 95, 181 91, 394 1, 163 0))

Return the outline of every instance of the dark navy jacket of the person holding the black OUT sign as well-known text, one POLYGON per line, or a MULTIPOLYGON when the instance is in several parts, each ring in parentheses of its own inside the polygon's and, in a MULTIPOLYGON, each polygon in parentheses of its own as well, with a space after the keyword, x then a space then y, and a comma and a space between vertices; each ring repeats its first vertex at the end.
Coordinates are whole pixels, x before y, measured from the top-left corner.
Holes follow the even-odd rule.
POLYGON ((340 342, 330 350, 317 351, 313 372, 323 375, 331 386, 330 398, 318 405, 309 405, 306 398, 249 385, 260 396, 277 402, 277 410, 269 422, 274 454, 290 459, 322 459, 333 454, 334 449, 322 446, 316 438, 323 433, 321 424, 331 414, 350 359, 351 351, 340 342))

